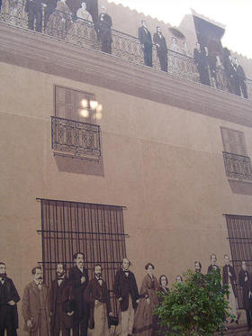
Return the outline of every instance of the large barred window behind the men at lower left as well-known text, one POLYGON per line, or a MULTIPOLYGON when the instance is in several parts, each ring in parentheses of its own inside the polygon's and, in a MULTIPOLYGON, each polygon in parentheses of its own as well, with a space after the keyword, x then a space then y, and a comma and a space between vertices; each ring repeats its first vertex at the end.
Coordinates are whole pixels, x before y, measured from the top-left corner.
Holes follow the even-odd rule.
POLYGON ((112 293, 115 273, 126 257, 123 207, 41 199, 42 261, 45 282, 56 277, 58 262, 67 270, 74 266, 72 256, 85 254, 85 268, 94 277, 94 264, 103 267, 111 295, 112 310, 116 301, 112 293))

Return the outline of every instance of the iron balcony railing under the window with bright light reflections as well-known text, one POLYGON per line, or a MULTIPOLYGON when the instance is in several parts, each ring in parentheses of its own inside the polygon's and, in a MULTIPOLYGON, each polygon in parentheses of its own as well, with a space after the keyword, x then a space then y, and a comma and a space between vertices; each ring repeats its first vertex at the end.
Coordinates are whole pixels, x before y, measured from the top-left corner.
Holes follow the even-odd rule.
POLYGON ((51 148, 55 155, 99 161, 100 126, 52 116, 51 148))

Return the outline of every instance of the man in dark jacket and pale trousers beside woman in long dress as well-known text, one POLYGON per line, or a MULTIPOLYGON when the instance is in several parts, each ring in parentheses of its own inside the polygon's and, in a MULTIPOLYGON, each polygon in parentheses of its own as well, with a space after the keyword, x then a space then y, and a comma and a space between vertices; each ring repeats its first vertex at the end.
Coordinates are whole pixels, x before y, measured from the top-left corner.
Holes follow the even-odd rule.
POLYGON ((134 314, 139 303, 139 290, 134 274, 130 271, 130 260, 124 258, 116 272, 113 291, 121 306, 121 336, 132 333, 134 314))

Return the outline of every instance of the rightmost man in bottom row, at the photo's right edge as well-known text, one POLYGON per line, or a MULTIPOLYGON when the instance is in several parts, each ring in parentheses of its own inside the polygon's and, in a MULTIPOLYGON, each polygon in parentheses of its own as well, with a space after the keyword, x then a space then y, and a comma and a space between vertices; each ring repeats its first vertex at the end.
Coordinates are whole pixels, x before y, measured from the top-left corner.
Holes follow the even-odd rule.
POLYGON ((246 311, 247 329, 250 330, 252 327, 252 288, 251 277, 247 270, 246 261, 242 261, 241 263, 241 269, 238 273, 238 285, 242 288, 243 309, 246 311))

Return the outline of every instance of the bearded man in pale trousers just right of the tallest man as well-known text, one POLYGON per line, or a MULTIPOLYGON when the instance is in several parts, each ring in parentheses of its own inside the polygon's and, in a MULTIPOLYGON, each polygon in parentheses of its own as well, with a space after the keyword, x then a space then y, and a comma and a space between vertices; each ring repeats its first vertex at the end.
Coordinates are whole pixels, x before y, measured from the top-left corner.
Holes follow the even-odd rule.
POLYGON ((84 296, 90 306, 89 327, 93 329, 92 336, 109 336, 109 317, 112 316, 112 309, 101 265, 94 266, 94 278, 85 288, 84 296))

